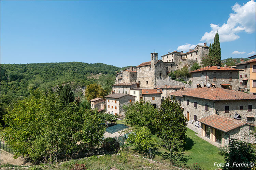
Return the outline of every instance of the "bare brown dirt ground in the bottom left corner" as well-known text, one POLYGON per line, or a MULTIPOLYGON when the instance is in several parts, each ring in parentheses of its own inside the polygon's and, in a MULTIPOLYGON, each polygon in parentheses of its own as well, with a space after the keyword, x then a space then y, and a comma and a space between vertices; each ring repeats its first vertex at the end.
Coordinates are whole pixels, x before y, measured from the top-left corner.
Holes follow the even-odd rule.
POLYGON ((6 152, 1 149, 1 161, 0 164, 12 164, 12 165, 23 165, 23 166, 31 166, 32 164, 30 162, 27 162, 26 159, 22 157, 18 157, 17 159, 13 159, 13 154, 6 152))

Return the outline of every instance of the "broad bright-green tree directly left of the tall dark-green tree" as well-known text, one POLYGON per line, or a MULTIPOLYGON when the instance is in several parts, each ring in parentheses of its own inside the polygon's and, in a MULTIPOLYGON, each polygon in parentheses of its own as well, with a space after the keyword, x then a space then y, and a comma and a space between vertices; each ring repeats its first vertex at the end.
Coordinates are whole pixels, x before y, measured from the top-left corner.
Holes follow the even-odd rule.
POLYGON ((157 115, 157 109, 148 101, 130 103, 129 106, 124 106, 125 122, 132 127, 146 126, 151 130, 151 133, 155 133, 154 119, 157 115))

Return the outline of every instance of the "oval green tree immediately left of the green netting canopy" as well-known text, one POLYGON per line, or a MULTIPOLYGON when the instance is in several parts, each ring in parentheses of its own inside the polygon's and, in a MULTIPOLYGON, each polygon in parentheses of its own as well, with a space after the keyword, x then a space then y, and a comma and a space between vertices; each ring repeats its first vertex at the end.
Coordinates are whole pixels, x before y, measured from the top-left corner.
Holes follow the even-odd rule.
POLYGON ((96 109, 87 109, 84 115, 84 124, 82 128, 82 142, 85 148, 90 149, 90 153, 94 153, 98 146, 102 145, 103 136, 106 131, 104 121, 101 114, 96 109))

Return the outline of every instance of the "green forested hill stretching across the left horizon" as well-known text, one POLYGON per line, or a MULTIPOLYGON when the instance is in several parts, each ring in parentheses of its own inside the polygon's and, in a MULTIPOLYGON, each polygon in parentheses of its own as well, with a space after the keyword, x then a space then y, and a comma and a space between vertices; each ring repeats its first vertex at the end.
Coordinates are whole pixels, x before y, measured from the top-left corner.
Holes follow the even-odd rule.
POLYGON ((1 97, 27 96, 29 87, 48 90, 67 82, 83 87, 97 81, 88 79, 91 73, 110 74, 114 77, 120 69, 103 63, 82 62, 1 64, 1 97))

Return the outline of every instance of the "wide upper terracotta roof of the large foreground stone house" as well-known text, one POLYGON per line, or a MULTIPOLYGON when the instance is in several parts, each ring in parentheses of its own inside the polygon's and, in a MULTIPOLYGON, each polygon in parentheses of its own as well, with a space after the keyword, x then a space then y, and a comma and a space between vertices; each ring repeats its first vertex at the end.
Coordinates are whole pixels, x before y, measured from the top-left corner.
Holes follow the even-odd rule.
POLYGON ((170 93, 172 96, 191 96, 201 99, 208 99, 208 100, 251 100, 256 99, 255 95, 247 94, 240 91, 234 91, 224 88, 193 88, 189 90, 186 90, 187 88, 184 88, 183 92, 180 92, 180 90, 177 90, 175 92, 170 93), (180 92, 180 94, 179 94, 180 92))

